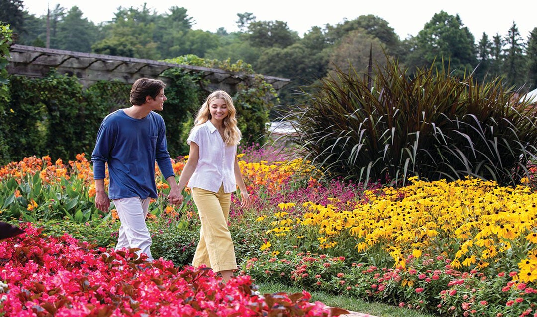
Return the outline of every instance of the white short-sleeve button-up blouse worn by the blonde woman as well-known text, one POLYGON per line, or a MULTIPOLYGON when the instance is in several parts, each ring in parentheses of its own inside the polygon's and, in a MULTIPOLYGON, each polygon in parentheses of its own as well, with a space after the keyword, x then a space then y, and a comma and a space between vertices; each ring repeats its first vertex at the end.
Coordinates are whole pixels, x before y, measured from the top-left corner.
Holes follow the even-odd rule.
POLYGON ((224 186, 224 193, 237 190, 235 180, 235 156, 237 145, 225 145, 220 133, 211 121, 192 129, 186 142, 199 146, 198 165, 188 187, 201 188, 217 193, 224 186))

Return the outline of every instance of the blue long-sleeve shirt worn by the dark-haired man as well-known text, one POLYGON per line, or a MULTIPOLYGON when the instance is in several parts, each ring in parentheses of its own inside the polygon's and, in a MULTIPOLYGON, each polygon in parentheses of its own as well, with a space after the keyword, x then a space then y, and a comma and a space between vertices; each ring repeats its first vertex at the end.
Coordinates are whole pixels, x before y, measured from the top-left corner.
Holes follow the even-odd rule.
POLYGON ((108 163, 111 199, 157 198, 155 161, 165 179, 175 175, 165 132, 162 116, 154 112, 134 119, 117 110, 104 118, 91 160, 94 179, 105 179, 108 163))

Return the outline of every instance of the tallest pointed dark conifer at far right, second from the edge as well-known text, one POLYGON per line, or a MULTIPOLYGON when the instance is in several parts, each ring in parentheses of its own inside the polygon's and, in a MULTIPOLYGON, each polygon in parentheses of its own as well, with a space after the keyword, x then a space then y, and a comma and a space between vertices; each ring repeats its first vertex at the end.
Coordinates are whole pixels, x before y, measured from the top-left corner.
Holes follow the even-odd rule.
POLYGON ((518 87, 523 86, 525 83, 524 75, 526 73, 524 71, 524 43, 514 21, 513 25, 511 25, 509 31, 507 32, 505 43, 504 73, 506 75, 506 83, 518 87))

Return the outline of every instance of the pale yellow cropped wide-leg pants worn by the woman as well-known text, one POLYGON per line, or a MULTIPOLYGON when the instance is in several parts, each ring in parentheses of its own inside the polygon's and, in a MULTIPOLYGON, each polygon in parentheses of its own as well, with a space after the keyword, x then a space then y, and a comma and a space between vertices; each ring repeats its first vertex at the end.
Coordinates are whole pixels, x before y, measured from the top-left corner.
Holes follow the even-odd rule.
POLYGON ((215 272, 236 270, 235 248, 228 229, 231 193, 192 188, 192 198, 201 220, 200 241, 192 261, 193 267, 205 264, 215 272))

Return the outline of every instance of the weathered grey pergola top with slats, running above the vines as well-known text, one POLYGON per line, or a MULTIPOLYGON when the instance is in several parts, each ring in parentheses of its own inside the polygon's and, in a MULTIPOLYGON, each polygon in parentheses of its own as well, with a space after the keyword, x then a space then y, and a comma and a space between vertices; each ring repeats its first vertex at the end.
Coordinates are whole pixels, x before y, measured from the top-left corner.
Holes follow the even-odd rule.
MULTIPOLYGON (((10 54, 7 69, 12 75, 45 77, 49 69, 54 68, 59 73, 76 76, 84 87, 100 80, 132 84, 140 77, 160 78, 163 82, 169 82, 168 78, 162 76, 162 72, 174 67, 201 73, 208 80, 209 86, 205 87, 208 91, 222 89, 235 92, 237 84, 250 86, 254 78, 254 75, 217 68, 18 44, 11 46, 10 54)), ((275 76, 264 76, 264 79, 275 90, 280 90, 291 82, 288 78, 275 76)))

